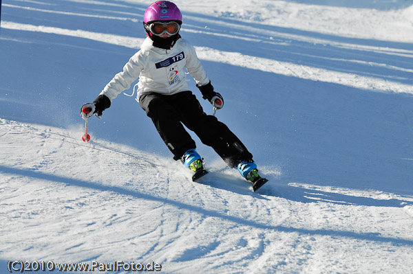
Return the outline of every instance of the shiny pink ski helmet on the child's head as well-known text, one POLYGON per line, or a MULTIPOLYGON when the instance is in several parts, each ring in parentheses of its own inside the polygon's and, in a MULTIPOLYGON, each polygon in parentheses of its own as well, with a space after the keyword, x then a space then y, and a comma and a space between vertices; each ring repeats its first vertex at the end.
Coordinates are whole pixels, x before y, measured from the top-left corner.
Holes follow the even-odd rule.
POLYGON ((144 25, 155 21, 175 21, 182 24, 182 14, 179 8, 170 1, 156 1, 151 3, 143 15, 144 25))

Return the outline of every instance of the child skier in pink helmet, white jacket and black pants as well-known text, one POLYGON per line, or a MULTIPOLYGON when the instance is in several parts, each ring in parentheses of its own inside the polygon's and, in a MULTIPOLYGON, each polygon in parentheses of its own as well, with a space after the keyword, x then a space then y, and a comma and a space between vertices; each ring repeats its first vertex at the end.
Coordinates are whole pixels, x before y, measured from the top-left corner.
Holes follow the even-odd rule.
POLYGON ((182 124, 193 130, 203 144, 211 146, 227 165, 236 167, 256 190, 267 180, 258 174, 253 155, 225 124, 204 113, 200 102, 188 90, 184 67, 195 79, 202 98, 209 100, 214 110, 224 106, 222 95, 214 91, 195 49, 179 34, 182 14, 178 7, 170 1, 152 3, 145 12, 143 25, 147 38, 141 49, 93 103, 82 106, 83 119, 94 113, 102 115, 112 100, 139 78, 137 100, 140 106, 152 119, 160 137, 173 153, 173 159, 180 159, 195 172, 194 181, 207 171, 195 150, 195 141, 182 124))

